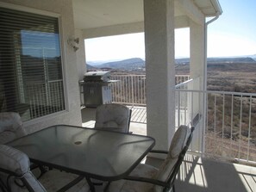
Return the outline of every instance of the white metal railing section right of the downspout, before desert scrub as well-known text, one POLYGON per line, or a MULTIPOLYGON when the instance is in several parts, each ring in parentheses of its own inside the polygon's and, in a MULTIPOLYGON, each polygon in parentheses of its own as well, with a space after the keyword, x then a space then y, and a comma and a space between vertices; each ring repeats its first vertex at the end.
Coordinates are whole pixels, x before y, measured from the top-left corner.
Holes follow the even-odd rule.
POLYGON ((256 94, 208 91, 207 99, 206 152, 256 162, 256 94))

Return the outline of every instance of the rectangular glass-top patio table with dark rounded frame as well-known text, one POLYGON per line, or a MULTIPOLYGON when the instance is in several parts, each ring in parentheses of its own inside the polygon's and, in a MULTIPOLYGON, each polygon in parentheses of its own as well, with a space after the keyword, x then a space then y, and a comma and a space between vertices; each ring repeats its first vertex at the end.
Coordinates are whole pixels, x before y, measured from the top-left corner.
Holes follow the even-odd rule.
POLYGON ((79 176, 114 181, 127 177, 153 148, 148 136, 57 125, 9 142, 31 162, 79 176))

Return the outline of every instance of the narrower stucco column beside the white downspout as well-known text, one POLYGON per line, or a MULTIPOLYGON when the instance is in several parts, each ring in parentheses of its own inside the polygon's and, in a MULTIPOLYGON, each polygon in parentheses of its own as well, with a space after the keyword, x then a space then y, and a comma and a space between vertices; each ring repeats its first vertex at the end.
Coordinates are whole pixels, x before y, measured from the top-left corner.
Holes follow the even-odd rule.
MULTIPOLYGON (((194 79, 193 87, 190 87, 192 90, 204 90, 204 80, 206 78, 205 40, 204 22, 196 23, 190 21, 190 77, 194 79)), ((202 92, 201 94, 194 93, 191 97, 191 119, 195 118, 197 115, 203 116, 204 118, 204 96, 202 92)), ((200 118, 198 124, 193 125, 196 126, 196 131, 193 135, 191 146, 193 146, 194 150, 199 152, 203 151, 203 123, 204 119, 200 118)))

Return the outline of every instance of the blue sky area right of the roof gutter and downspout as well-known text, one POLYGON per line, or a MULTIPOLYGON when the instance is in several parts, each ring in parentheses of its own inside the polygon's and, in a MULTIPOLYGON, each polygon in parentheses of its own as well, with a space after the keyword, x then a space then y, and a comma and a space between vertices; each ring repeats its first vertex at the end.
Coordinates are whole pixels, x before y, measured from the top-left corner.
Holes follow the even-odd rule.
POLYGON ((223 13, 208 27, 208 55, 256 54, 256 1, 219 0, 223 13))

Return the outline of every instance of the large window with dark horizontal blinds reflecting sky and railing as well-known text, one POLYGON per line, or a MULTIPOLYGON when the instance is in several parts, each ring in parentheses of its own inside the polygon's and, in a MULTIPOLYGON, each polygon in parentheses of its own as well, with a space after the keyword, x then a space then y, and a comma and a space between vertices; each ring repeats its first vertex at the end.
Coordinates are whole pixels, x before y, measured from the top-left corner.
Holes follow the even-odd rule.
POLYGON ((0 112, 65 110, 58 18, 0 8, 0 112))

